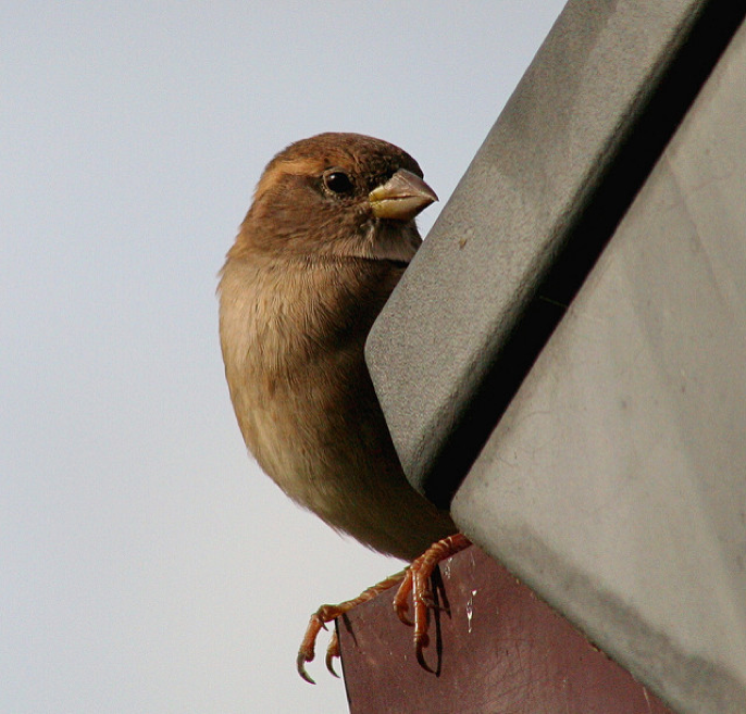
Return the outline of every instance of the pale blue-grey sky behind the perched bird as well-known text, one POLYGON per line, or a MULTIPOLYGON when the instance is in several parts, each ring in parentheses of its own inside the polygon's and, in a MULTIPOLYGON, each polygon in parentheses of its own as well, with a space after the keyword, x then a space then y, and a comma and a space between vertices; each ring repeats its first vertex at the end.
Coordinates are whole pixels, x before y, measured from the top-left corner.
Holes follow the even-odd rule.
POLYGON ((300 638, 401 563, 247 455, 216 274, 320 131, 411 153, 426 234, 562 5, 3 3, 0 711, 347 711, 300 638))

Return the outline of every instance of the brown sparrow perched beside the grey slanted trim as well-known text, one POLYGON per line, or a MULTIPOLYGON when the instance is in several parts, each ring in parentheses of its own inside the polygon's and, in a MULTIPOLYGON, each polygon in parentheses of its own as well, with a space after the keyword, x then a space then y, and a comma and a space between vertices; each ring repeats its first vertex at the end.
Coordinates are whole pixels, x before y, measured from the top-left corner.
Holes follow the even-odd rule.
MULTIPOLYGON (((407 561, 457 528, 405 478, 363 346, 421 243, 414 217, 436 200, 414 159, 390 143, 358 134, 297 141, 268 164, 219 287, 225 373, 250 452, 334 529, 407 561)), ((424 580, 408 571, 398 596, 409 622, 414 589, 421 662, 428 573, 465 544, 462 536, 442 544, 425 559, 424 580)), ((298 655, 309 681, 320 627, 359 601, 312 616, 298 655)))

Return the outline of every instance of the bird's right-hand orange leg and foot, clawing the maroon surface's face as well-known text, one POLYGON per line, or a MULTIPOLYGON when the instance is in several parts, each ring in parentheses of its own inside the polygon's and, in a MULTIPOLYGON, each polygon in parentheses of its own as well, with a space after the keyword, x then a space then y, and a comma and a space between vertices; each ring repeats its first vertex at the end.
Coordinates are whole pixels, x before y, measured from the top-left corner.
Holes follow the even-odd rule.
POLYGON ((423 649, 427 647, 427 610, 433 606, 433 593, 430 588, 430 578, 437 564, 464 548, 471 546, 471 540, 463 534, 448 536, 443 540, 433 543, 420 558, 405 572, 403 580, 399 590, 394 597, 394 611, 399 619, 406 625, 414 626, 414 651, 416 660, 424 669, 433 672, 423 656, 423 649), (414 610, 414 622, 407 615, 409 606, 407 600, 412 593, 412 605, 414 610))

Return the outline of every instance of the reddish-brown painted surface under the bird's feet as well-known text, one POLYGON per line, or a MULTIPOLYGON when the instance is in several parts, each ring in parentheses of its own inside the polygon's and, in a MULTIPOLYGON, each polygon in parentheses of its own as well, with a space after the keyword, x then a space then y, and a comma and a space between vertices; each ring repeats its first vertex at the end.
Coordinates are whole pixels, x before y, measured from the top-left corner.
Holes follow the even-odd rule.
POLYGON ((352 714, 663 714, 651 692, 508 571, 472 547, 440 565, 450 614, 431 618, 425 659, 393 591, 338 624, 352 714))

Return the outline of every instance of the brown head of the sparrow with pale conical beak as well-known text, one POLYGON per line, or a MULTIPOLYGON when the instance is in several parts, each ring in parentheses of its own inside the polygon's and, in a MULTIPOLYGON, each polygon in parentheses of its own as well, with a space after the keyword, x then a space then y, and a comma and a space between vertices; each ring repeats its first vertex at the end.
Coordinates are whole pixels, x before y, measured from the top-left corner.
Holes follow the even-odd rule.
POLYGON ((414 217, 436 200, 416 161, 398 147, 320 134, 268 164, 237 248, 408 263, 421 242, 414 217))

